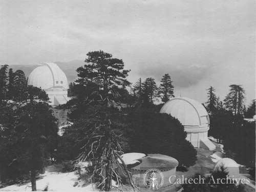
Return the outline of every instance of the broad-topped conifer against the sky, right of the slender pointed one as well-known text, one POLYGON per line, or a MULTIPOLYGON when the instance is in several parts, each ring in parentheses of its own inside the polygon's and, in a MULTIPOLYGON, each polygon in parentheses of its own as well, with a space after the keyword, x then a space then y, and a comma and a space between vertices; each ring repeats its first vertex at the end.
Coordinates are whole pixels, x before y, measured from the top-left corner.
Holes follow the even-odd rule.
POLYGON ((243 113, 243 103, 245 91, 241 85, 229 85, 230 92, 227 94, 224 105, 231 110, 234 115, 243 113))

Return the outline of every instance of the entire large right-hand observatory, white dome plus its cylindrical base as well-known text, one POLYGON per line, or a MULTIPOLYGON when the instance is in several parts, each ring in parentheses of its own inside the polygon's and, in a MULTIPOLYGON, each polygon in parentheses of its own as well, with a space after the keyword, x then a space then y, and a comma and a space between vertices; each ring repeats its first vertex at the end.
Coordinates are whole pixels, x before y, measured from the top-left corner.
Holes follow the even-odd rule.
POLYGON ((167 113, 177 118, 187 132, 186 139, 195 148, 208 150, 216 148, 208 139, 209 116, 201 103, 185 97, 173 98, 164 104, 160 113, 167 113))

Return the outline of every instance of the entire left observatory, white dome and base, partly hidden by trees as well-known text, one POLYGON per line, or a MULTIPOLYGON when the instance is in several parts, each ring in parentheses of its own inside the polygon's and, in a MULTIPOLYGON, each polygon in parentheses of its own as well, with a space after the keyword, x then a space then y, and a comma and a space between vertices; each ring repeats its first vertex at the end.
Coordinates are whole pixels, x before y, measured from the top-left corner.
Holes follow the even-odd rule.
POLYGON ((55 63, 42 63, 36 67, 29 75, 28 85, 45 90, 50 99, 50 105, 66 104, 69 100, 68 79, 55 63))

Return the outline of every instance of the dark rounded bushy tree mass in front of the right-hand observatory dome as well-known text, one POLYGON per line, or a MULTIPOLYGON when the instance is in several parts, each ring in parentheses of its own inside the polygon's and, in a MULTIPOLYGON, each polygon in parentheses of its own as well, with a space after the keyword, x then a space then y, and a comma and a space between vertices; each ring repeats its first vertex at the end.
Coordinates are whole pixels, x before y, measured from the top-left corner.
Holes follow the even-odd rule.
POLYGON ((195 164, 197 152, 186 140, 187 133, 176 118, 147 108, 132 111, 128 120, 134 130, 131 152, 168 155, 176 158, 180 166, 195 164))

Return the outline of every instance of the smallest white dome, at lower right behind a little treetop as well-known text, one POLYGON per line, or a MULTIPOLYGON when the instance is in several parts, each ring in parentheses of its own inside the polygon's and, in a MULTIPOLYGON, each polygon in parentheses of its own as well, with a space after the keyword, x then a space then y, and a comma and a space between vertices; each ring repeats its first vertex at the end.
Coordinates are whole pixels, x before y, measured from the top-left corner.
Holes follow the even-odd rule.
POLYGON ((214 167, 214 172, 221 171, 221 166, 225 167, 226 171, 228 172, 229 178, 237 177, 239 175, 239 165, 233 159, 220 159, 214 167))

